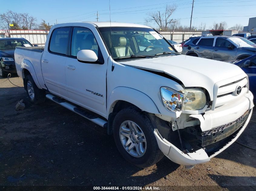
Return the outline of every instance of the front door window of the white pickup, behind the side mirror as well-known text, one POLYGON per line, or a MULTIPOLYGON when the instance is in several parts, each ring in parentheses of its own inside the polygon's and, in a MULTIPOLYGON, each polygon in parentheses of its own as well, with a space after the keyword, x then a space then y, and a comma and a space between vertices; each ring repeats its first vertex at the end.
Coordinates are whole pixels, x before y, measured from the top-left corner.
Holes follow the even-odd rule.
POLYGON ((79 50, 92 50, 98 56, 98 43, 91 32, 87 28, 75 27, 71 40, 71 56, 77 56, 79 50))

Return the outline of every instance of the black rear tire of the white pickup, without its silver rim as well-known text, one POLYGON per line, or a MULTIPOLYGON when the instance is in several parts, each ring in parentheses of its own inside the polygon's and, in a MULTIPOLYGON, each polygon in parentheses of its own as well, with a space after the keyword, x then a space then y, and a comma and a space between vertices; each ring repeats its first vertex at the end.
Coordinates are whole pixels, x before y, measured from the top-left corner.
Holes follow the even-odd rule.
POLYGON ((25 78, 25 89, 27 91, 28 99, 30 100, 31 103, 36 105, 36 104, 40 104, 40 103, 45 102, 45 90, 39 89, 36 86, 36 84, 35 84, 31 75, 27 75, 26 78, 25 78), (31 87, 33 88, 33 91, 34 91, 34 98, 33 99, 28 94, 28 82, 30 82, 31 87))

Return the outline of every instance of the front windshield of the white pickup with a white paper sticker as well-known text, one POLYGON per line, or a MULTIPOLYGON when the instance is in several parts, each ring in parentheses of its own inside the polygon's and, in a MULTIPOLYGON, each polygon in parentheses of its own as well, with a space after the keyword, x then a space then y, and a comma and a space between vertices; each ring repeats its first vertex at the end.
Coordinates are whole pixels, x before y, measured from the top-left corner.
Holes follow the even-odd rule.
POLYGON ((99 27, 113 59, 132 59, 155 57, 157 55, 170 56, 177 52, 151 28, 143 27, 99 27), (164 54, 163 54, 164 53, 164 54), (166 54, 170 53, 170 54, 166 54))

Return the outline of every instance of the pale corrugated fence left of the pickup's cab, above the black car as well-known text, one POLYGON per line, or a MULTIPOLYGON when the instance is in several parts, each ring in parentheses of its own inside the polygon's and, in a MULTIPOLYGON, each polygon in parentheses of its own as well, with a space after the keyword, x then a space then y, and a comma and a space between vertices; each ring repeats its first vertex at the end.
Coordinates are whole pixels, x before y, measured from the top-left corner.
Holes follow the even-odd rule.
MULTIPOLYGON (((0 30, 0 38, 5 38, 7 30, 0 30)), ((25 38, 31 44, 45 45, 48 30, 10 30, 12 38, 25 38)))

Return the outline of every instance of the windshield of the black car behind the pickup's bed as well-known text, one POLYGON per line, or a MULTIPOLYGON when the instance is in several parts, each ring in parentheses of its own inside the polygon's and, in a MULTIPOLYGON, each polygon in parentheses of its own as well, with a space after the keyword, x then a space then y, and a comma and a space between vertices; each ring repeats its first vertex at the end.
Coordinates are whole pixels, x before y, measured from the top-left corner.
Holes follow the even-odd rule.
POLYGON ((0 40, 0 50, 32 46, 27 40, 0 40))

